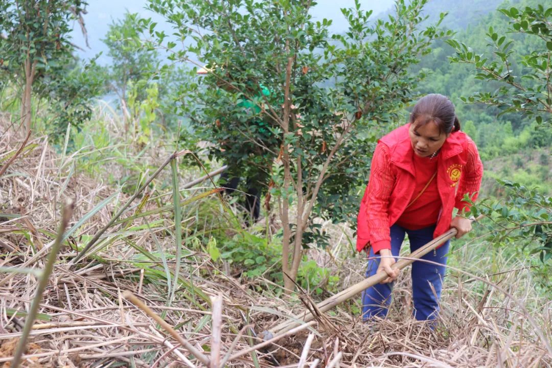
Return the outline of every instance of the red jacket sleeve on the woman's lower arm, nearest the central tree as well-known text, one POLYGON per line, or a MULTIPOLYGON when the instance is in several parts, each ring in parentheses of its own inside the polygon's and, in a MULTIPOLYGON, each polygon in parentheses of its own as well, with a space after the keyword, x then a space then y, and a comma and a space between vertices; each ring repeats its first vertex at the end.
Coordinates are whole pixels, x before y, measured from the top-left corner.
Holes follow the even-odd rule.
POLYGON ((378 143, 372 157, 370 180, 360 202, 357 217, 357 250, 370 242, 374 254, 391 249, 389 235, 389 197, 395 183, 396 170, 390 161, 389 148, 378 143))

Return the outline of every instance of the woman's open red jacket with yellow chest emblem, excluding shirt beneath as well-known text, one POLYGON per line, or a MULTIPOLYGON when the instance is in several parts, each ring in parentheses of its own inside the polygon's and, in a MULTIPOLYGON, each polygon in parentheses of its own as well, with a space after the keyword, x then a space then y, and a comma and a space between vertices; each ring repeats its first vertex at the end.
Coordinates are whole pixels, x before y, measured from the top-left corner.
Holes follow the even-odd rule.
MULTIPOLYGON (((360 202, 357 228, 357 250, 368 243, 378 253, 391 249, 389 228, 405 211, 416 195, 415 168, 412 162, 409 124, 403 125, 379 140, 372 158, 370 180, 360 202)), ((442 210, 433 237, 447 232, 453 207, 469 209, 462 201, 465 194, 477 198, 483 164, 474 141, 464 132, 450 134, 437 156, 437 187, 442 210)))

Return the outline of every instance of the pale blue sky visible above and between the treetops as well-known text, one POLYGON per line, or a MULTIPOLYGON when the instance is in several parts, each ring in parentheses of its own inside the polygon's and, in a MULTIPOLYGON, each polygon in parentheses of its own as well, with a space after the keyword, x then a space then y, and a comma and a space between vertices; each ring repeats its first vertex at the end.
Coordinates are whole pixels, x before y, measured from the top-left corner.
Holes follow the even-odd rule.
MULTIPOLYGON (((91 58, 98 52, 103 51, 103 55, 100 56, 98 62, 102 65, 109 64, 107 48, 101 40, 113 20, 123 18, 127 9, 131 13, 139 13, 141 17, 151 17, 154 22, 158 22, 162 27, 163 19, 146 10, 146 3, 145 0, 88 0, 88 13, 84 15, 84 23, 86 24, 90 48, 86 47, 80 26, 77 23, 73 25, 73 43, 83 49, 79 51, 79 56, 91 58)), ((364 10, 373 10, 374 16, 392 7, 394 0, 360 0, 360 3, 364 10)), ((319 0, 317 5, 312 8, 311 14, 317 20, 332 19, 330 30, 339 33, 347 28, 346 19, 339 9, 352 8, 353 6, 354 0, 319 0)), ((164 30, 168 33, 169 28, 164 28, 164 30)))

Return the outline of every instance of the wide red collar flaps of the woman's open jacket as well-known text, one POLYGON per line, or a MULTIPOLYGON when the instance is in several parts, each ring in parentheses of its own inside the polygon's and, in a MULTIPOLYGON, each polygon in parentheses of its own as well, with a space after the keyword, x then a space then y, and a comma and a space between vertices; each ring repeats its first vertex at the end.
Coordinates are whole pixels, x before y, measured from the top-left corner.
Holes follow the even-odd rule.
MULTIPOLYGON (((413 155, 415 153, 412 150, 410 136, 408 136, 408 125, 407 123, 397 128, 395 131, 391 132, 391 134, 381 138, 381 141, 390 148, 391 162, 397 167, 415 175, 416 171, 413 162, 413 155)), ((462 132, 453 132, 448 136, 439 152, 441 159, 449 159, 463 152, 463 135, 462 132)))

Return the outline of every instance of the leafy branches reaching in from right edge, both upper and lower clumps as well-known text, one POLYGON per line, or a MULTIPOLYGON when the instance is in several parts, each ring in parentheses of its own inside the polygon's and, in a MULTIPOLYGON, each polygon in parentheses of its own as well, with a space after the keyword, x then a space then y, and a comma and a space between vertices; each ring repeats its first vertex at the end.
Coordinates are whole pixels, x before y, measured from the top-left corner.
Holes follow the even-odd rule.
MULTIPOLYGON (((498 11, 506 16, 509 26, 500 33, 489 28, 487 36, 492 54, 476 54, 462 42, 447 41, 456 51, 450 58, 453 63, 472 65, 476 79, 498 84, 493 92, 477 92, 464 100, 495 106, 502 113, 528 116, 534 119, 537 129, 546 127, 549 130, 552 122, 552 8, 536 4, 498 11), (513 49, 515 38, 523 39, 526 52, 513 49), (519 75, 512 68, 516 63, 523 67, 519 75)), ((544 130, 540 135, 546 140, 549 134, 544 130)), ((543 264, 548 262, 552 259, 552 198, 519 183, 506 180, 499 183, 506 189, 505 199, 487 199, 471 207, 474 216, 484 214, 492 220, 487 240, 495 244, 529 246, 530 253, 539 253, 543 264)), ((543 284, 550 285, 548 280, 543 284)))

